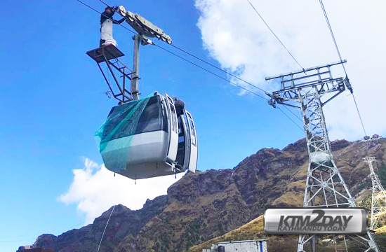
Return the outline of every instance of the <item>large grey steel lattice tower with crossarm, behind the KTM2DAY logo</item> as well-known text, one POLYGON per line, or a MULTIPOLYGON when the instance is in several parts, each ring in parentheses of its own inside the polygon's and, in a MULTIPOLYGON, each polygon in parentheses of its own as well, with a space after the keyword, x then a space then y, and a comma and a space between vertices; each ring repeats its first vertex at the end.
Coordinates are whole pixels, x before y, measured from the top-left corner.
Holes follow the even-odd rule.
MULTIPOLYGON (((267 93, 271 97, 270 105, 276 107, 278 103, 302 111, 309 154, 303 207, 357 207, 333 160, 323 113, 323 106, 344 92, 346 88, 352 92, 347 76, 333 78, 331 73, 331 66, 345 62, 335 62, 265 78, 265 80, 280 80, 281 84, 279 91, 267 93)), ((316 251, 314 238, 315 235, 300 235, 298 252, 305 251, 307 243, 310 244, 312 251, 316 251)), ((365 252, 380 252, 368 231, 366 235, 351 238, 352 241, 365 244, 365 252)))

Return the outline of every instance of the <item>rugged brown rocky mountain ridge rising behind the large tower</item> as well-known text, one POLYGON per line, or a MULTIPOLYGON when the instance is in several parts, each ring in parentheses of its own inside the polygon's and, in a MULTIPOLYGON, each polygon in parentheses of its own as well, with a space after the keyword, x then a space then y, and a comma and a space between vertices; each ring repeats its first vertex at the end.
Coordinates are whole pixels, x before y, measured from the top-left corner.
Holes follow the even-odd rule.
MULTIPOLYGON (((386 182, 386 139, 340 140, 332 148, 343 178, 359 200, 368 197, 371 187, 362 158, 375 156, 386 182)), ((167 195, 147 200, 140 210, 115 207, 100 251, 187 251, 237 230, 267 207, 300 207, 307 159, 302 139, 283 150, 263 148, 233 169, 189 173, 168 188, 167 195)), ((58 252, 95 251, 111 211, 79 230, 58 237, 41 235, 34 246, 58 252)))

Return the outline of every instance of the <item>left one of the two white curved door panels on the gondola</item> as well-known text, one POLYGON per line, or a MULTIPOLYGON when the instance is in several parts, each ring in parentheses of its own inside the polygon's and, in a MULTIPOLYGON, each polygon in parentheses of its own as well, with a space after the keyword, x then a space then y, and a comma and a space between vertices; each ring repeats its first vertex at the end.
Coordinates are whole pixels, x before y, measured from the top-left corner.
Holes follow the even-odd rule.
POLYGON ((166 105, 168 109, 168 125, 169 125, 169 148, 168 155, 166 156, 167 160, 175 162, 178 149, 178 120, 177 113, 175 112, 175 106, 173 99, 171 99, 168 94, 165 94, 166 105))

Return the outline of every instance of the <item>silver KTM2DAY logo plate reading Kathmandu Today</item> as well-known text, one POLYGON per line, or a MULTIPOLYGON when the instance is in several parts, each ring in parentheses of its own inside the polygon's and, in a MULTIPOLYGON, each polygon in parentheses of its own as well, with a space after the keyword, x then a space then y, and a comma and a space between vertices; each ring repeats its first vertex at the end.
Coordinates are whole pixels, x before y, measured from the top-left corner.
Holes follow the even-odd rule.
POLYGON ((267 209, 267 234, 359 234, 367 230, 367 211, 358 208, 267 209))

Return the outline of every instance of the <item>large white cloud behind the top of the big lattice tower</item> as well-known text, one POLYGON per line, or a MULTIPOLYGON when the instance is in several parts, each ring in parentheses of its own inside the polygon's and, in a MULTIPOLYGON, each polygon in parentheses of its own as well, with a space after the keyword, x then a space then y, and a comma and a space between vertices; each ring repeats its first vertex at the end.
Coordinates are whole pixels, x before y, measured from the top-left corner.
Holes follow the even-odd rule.
MULTIPOLYGON (((303 67, 338 61, 319 1, 250 0, 303 67)), ((382 104, 386 58, 385 1, 324 1, 368 134, 386 134, 382 104)), ((211 57, 237 76, 272 91, 272 76, 300 69, 246 0, 196 0, 198 27, 211 57)), ((342 70, 338 69, 338 74, 342 70)), ((237 80, 234 80, 237 81, 237 80)), ((237 81, 240 85, 245 85, 237 81)), ((251 88, 250 86, 247 86, 251 88)), ((326 105, 331 139, 363 137, 349 92, 326 105)), ((258 98, 256 98, 258 99, 258 98)))

